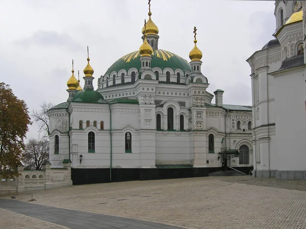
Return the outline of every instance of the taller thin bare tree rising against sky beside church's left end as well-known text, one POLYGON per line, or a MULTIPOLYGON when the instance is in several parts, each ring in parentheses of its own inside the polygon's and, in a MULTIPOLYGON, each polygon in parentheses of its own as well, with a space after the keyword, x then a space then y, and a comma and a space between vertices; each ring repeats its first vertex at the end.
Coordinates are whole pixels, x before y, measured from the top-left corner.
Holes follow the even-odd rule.
POLYGON ((47 111, 54 107, 53 103, 43 102, 40 104, 40 110, 33 110, 31 117, 35 123, 38 125, 39 137, 45 139, 48 137, 49 133, 49 117, 47 111))

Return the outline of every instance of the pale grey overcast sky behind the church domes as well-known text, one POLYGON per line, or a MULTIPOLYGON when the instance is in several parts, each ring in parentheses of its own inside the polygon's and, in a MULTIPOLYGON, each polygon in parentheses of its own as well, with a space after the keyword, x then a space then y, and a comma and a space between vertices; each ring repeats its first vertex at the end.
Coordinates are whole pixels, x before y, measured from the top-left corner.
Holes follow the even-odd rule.
MULTIPOLYGON (((83 77, 88 45, 96 89, 100 75, 140 47, 147 12, 146 0, 1 1, 0 81, 10 84, 30 111, 43 101, 65 102, 71 60, 83 77)), ((245 60, 273 39, 274 1, 152 0, 151 12, 160 49, 190 61, 196 26, 208 92, 222 89, 223 103, 251 105, 245 60)), ((37 136, 32 125, 27 137, 37 136)))

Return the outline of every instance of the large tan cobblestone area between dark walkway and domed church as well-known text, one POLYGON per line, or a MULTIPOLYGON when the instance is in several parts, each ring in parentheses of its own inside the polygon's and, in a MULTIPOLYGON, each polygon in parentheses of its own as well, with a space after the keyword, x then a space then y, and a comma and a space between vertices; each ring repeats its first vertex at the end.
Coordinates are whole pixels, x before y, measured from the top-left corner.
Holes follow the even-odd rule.
POLYGON ((301 181, 206 177, 80 185, 33 197, 35 204, 189 228, 306 228, 306 192, 293 189, 306 190, 301 181))

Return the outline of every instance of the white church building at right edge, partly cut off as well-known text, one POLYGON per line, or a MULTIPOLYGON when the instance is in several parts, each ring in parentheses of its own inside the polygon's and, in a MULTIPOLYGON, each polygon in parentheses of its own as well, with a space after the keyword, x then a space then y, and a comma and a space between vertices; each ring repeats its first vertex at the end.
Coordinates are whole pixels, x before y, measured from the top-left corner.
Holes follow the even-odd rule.
POLYGON ((275 1, 275 39, 247 60, 256 177, 306 179, 305 12, 302 1, 275 1))

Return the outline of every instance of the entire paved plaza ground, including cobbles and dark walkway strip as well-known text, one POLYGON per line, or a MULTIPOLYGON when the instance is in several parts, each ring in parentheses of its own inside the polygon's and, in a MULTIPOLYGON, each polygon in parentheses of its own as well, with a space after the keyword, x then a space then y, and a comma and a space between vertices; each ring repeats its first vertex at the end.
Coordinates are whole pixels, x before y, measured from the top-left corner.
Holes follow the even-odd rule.
POLYGON ((305 191, 247 176, 80 185, 2 196, 0 228, 306 228, 305 191))

